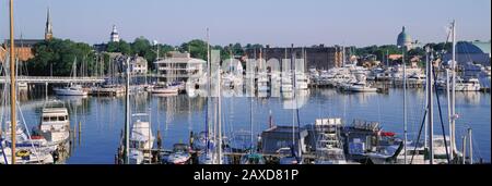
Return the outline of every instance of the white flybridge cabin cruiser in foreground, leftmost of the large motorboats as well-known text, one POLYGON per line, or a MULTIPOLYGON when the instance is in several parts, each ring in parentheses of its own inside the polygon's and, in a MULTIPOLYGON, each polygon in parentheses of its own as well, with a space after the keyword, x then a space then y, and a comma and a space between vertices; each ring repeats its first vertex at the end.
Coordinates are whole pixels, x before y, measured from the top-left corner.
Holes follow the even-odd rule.
POLYGON ((47 101, 42 111, 39 133, 49 144, 59 145, 70 137, 68 110, 60 101, 47 101))

